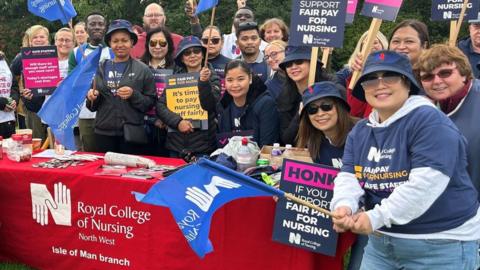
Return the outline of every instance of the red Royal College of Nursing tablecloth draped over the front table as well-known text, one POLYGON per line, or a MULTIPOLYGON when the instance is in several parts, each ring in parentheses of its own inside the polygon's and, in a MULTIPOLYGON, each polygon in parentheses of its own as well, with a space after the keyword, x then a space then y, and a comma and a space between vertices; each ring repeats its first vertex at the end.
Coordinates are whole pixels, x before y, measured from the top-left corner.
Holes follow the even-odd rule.
POLYGON ((354 241, 342 234, 336 257, 276 243, 274 200, 248 198, 215 213, 214 251, 200 259, 169 209, 132 195, 147 192, 156 180, 96 175, 103 160, 64 169, 32 166, 42 161, 0 160, 1 262, 35 269, 343 269, 354 241))

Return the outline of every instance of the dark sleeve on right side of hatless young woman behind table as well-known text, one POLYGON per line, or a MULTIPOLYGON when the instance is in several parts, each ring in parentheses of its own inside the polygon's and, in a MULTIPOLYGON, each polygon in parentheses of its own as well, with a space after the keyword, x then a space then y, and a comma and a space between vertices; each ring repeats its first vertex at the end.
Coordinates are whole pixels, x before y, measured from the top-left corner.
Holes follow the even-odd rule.
POLYGON ((259 108, 259 127, 260 133, 258 138, 258 144, 260 147, 263 145, 272 145, 278 142, 279 133, 279 118, 276 103, 273 98, 265 98, 265 102, 261 102, 259 108))

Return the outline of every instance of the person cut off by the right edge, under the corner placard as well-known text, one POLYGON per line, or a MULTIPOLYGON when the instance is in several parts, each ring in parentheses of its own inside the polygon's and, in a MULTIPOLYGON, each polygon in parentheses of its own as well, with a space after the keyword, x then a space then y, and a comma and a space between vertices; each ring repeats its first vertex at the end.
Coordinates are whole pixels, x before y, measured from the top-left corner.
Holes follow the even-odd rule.
POLYGON ((470 37, 461 40, 458 48, 468 57, 475 78, 480 78, 480 12, 476 19, 468 21, 470 37))

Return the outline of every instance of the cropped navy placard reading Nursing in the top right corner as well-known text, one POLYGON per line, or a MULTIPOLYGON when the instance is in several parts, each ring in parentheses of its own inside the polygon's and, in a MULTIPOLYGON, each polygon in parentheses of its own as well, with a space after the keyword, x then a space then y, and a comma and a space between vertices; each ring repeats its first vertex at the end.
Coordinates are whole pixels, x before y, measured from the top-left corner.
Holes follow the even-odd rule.
MULTIPOLYGON (((458 20, 462 11, 464 0, 433 0, 432 21, 458 20)), ((464 20, 476 19, 479 12, 480 1, 470 0, 465 10, 464 20)))

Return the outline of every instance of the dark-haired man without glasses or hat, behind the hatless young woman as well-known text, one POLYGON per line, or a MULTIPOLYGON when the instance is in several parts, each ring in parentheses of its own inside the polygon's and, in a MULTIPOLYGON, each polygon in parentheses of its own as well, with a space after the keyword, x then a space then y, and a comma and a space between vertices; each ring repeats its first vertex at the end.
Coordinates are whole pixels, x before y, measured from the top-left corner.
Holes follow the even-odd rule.
POLYGON ((270 76, 270 69, 267 63, 263 61, 263 52, 260 51, 260 30, 256 22, 243 22, 236 27, 237 46, 240 48, 241 55, 237 59, 245 61, 252 73, 266 82, 270 76))

